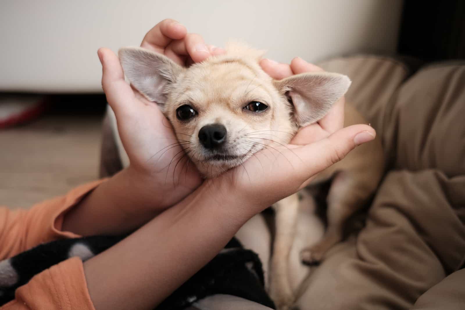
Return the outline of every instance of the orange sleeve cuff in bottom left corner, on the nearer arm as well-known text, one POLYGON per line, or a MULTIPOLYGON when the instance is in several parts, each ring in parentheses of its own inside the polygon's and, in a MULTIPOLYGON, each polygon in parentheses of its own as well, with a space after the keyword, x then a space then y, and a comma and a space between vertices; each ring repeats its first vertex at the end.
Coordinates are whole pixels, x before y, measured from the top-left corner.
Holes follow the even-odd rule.
POLYGON ((42 271, 16 290, 15 299, 0 310, 95 310, 79 258, 42 271))

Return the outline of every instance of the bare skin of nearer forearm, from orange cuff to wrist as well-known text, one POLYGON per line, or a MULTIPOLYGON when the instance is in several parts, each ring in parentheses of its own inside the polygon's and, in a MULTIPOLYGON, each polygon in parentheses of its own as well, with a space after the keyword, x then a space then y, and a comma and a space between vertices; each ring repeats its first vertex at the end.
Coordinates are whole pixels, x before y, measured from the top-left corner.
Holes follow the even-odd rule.
POLYGON ((251 216, 202 186, 84 264, 97 310, 153 309, 212 259, 251 216), (116 272, 117 271, 117 272, 116 272))

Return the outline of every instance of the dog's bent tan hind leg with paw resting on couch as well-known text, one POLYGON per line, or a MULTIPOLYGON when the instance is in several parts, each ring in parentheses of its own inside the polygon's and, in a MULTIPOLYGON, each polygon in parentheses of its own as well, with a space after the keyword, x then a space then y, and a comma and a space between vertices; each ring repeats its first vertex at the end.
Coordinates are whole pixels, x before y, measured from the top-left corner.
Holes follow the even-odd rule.
POLYGON ((346 220, 363 207, 371 191, 363 182, 352 178, 346 172, 339 172, 332 181, 328 198, 326 233, 316 244, 302 250, 300 257, 306 264, 321 261, 325 253, 343 239, 346 220))

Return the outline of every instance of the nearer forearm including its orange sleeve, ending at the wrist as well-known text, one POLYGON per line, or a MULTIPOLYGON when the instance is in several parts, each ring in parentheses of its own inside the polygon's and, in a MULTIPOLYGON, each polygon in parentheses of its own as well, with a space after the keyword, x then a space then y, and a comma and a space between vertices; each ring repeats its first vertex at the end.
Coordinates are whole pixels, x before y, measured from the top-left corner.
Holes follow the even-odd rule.
POLYGON ((72 258, 36 275, 1 309, 152 310, 212 259, 247 220, 250 213, 213 207, 220 206, 219 199, 226 202, 210 195, 208 187, 199 187, 84 264, 72 258))

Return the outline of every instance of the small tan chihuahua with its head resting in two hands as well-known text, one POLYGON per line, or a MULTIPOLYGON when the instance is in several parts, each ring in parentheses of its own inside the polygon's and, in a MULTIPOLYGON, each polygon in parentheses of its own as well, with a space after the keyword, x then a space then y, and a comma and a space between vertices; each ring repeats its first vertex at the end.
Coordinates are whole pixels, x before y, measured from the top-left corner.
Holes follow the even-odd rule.
MULTIPOLYGON (((348 77, 328 72, 274 80, 259 65, 263 54, 230 43, 225 55, 185 68, 142 48, 119 51, 126 77, 159 105, 180 145, 185 150, 188 147, 186 154, 205 178, 241 165, 262 149, 289 143, 299 128, 325 116, 351 84, 348 77)), ((345 120, 345 125, 366 123, 350 106, 345 109, 345 120)), ((113 129, 117 132, 114 122, 113 129)), ((332 179, 328 225, 323 239, 301 252, 304 262, 321 260, 343 238, 345 220, 374 193, 383 166, 381 143, 375 139, 317 174, 312 182, 332 179)), ((288 258, 298 217, 297 194, 273 208, 276 235, 268 289, 279 309, 289 309, 296 298, 289 283, 288 258)))

